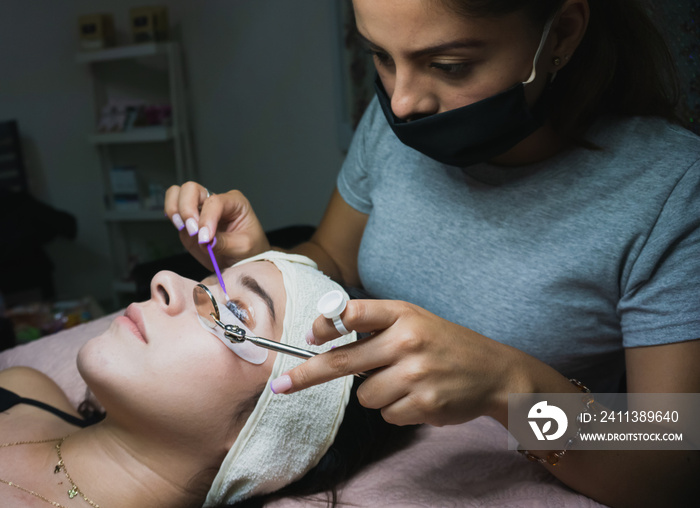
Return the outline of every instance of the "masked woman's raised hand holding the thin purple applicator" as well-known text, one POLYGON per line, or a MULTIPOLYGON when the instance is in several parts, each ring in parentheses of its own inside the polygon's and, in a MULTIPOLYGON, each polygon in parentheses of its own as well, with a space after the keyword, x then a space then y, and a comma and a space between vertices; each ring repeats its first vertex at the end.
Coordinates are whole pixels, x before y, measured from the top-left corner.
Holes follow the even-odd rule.
POLYGON ((260 221, 243 194, 236 190, 208 194, 196 182, 173 185, 165 193, 165 213, 190 254, 213 270, 206 244, 214 236, 214 252, 223 266, 269 250, 260 221))

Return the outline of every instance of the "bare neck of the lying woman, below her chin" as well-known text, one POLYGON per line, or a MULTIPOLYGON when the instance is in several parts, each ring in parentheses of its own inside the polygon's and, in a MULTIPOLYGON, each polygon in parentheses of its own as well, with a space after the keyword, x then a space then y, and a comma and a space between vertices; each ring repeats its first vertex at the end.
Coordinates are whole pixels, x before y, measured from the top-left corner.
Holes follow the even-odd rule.
POLYGON ((154 508, 201 506, 223 459, 201 441, 168 443, 125 432, 109 418, 72 434, 61 451, 73 481, 96 503, 154 508))

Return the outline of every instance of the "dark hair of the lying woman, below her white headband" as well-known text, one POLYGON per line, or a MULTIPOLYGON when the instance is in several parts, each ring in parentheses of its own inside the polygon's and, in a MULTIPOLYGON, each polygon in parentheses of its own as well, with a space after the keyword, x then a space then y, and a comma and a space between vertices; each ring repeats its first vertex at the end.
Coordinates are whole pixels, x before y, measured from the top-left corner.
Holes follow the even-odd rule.
POLYGON ((343 423, 335 441, 319 463, 303 478, 271 494, 246 499, 236 508, 258 508, 283 497, 311 498, 325 496, 329 506, 338 502, 336 488, 362 467, 407 445, 416 426, 397 427, 387 423, 378 410, 367 409, 357 400, 357 388, 361 379, 355 378, 350 401, 345 409, 343 423))

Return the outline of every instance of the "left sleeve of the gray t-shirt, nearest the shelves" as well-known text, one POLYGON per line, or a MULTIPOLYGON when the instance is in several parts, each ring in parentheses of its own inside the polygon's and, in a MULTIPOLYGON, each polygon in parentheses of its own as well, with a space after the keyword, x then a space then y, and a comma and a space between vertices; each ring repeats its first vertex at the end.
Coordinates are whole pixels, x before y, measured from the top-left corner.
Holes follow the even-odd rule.
POLYGON ((373 144, 373 137, 376 139, 377 120, 381 120, 377 119, 377 113, 381 113, 377 104, 375 97, 360 120, 337 181, 338 192, 345 202, 365 214, 372 211, 370 172, 366 159, 371 157, 368 150, 373 144))

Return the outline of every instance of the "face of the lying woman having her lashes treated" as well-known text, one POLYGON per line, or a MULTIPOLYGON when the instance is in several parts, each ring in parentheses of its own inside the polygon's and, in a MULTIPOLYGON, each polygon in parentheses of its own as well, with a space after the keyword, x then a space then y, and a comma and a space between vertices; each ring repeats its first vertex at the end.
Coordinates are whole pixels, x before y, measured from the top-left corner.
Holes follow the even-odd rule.
MULTIPOLYGON (((279 340, 286 299, 279 270, 267 261, 254 262, 229 268, 223 277, 243 324, 255 335, 279 340)), ((225 302, 216 278, 203 282, 225 302)), ((151 282, 151 299, 130 305, 80 351, 81 374, 108 417, 191 432, 202 425, 231 427, 241 408, 252 410, 251 398, 254 406, 276 355, 270 352, 254 365, 231 352, 200 324, 195 285, 159 272, 151 282)))

